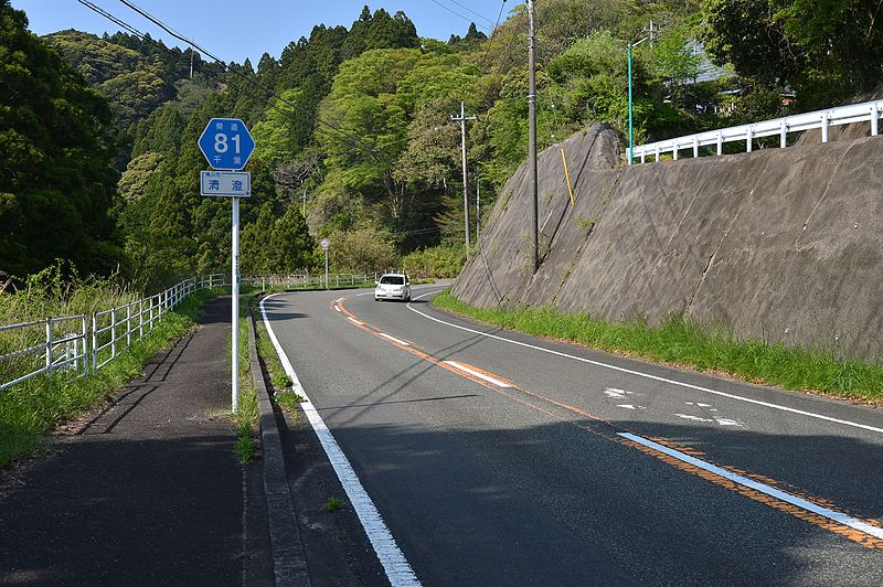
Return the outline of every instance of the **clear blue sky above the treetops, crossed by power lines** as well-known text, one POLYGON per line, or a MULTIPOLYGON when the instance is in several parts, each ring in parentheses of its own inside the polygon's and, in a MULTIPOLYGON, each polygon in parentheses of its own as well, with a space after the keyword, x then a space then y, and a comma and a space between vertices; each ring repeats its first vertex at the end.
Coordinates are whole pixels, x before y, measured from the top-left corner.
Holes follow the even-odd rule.
MULTIPOLYGON (((117 0, 91 0, 92 3, 168 45, 181 45, 158 26, 145 20, 117 0)), ((414 21, 417 34, 447 41, 451 34, 466 34, 475 21, 486 33, 500 14, 502 0, 131 0, 143 11, 164 22, 184 36, 225 61, 242 63, 249 57, 257 64, 265 52, 274 57, 300 36, 309 36, 316 24, 349 28, 359 18, 362 7, 371 11, 383 8, 391 14, 402 10, 414 21), (458 15, 459 13, 465 18, 458 15)), ((30 29, 46 34, 63 29, 77 29, 95 34, 114 33, 118 26, 91 11, 77 0, 12 0, 24 10, 30 29)), ((501 21, 522 0, 508 0, 501 21)))

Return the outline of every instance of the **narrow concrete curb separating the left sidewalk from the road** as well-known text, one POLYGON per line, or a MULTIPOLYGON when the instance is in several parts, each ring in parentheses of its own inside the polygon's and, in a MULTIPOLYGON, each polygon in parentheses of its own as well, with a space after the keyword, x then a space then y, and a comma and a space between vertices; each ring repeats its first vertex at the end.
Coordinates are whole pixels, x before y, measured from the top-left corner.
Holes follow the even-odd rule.
POLYGON ((248 360, 252 381, 257 393, 257 412, 260 425, 260 446, 264 461, 264 491, 267 500, 267 523, 269 526, 270 549, 273 551, 273 574, 278 587, 288 585, 310 586, 307 557, 297 525, 295 503, 288 487, 283 444, 273 413, 273 403, 267 394, 267 385, 260 372, 255 345, 255 322, 251 306, 248 316, 248 360))

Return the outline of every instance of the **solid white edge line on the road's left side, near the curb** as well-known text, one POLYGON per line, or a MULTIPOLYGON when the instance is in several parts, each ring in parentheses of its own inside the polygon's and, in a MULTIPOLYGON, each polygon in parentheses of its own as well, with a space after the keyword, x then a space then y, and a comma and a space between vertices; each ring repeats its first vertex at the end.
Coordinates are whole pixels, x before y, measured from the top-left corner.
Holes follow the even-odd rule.
POLYGON ((291 366, 291 362, 288 360, 288 355, 283 350, 279 340, 276 338, 276 333, 273 331, 273 327, 267 318, 267 311, 264 308, 264 301, 275 296, 274 294, 260 300, 260 316, 264 320, 267 333, 273 341, 273 346, 275 346, 276 353, 279 355, 283 369, 285 369, 285 373, 291 377, 292 391, 307 398, 306 402, 300 404, 300 407, 307 415, 307 419, 309 419, 310 426, 312 426, 313 431, 316 431, 316 436, 319 437, 319 441, 322 444, 326 455, 328 455, 328 460, 334 468, 334 472, 338 474, 338 479, 340 479, 340 483, 343 485, 343 490, 347 492, 350 503, 359 515, 362 527, 364 527, 365 534, 368 534, 368 538, 374 547, 374 553, 376 553, 377 559, 386 572, 386 578, 390 580, 390 584, 393 585, 393 587, 418 586, 421 583, 411 568, 411 564, 398 548, 390 529, 386 527, 386 523, 383 521, 383 517, 381 517, 376 505, 374 505, 371 497, 362 487, 359 477, 355 474, 352 465, 350 465, 340 445, 338 445, 337 440, 334 440, 334 437, 331 435, 331 430, 328 429, 319 412, 312 405, 312 402, 310 402, 307 392, 304 389, 300 380, 298 380, 295 373, 294 366, 291 366))

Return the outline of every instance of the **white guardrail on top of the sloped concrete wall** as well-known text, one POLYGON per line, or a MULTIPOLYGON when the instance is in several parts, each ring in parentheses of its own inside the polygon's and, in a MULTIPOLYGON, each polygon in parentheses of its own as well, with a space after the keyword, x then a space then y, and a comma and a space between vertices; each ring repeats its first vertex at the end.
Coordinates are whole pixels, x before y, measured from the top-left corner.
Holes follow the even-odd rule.
POLYGON ((745 141, 745 150, 751 152, 754 139, 762 137, 779 136, 779 147, 788 145, 789 132, 821 129, 821 141, 828 142, 828 129, 832 126, 851 125, 854 122, 870 122, 871 136, 880 134, 880 118, 883 114, 883 100, 851 104, 827 110, 786 116, 774 120, 742 125, 738 127, 709 130, 698 135, 678 137, 635 147, 631 160, 634 163, 643 163, 648 157, 656 161, 663 154, 671 153, 678 159, 679 151, 690 149, 693 157, 699 157, 701 147, 715 147, 716 153, 723 154, 725 142, 745 141))

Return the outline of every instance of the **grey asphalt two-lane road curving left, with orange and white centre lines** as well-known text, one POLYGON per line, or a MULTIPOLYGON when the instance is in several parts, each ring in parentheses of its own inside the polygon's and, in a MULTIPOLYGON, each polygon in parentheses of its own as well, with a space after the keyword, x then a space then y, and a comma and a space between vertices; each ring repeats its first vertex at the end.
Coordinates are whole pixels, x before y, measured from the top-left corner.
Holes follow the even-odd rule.
POLYGON ((883 584, 881 410, 478 325, 428 297, 265 302, 424 585, 883 584))

